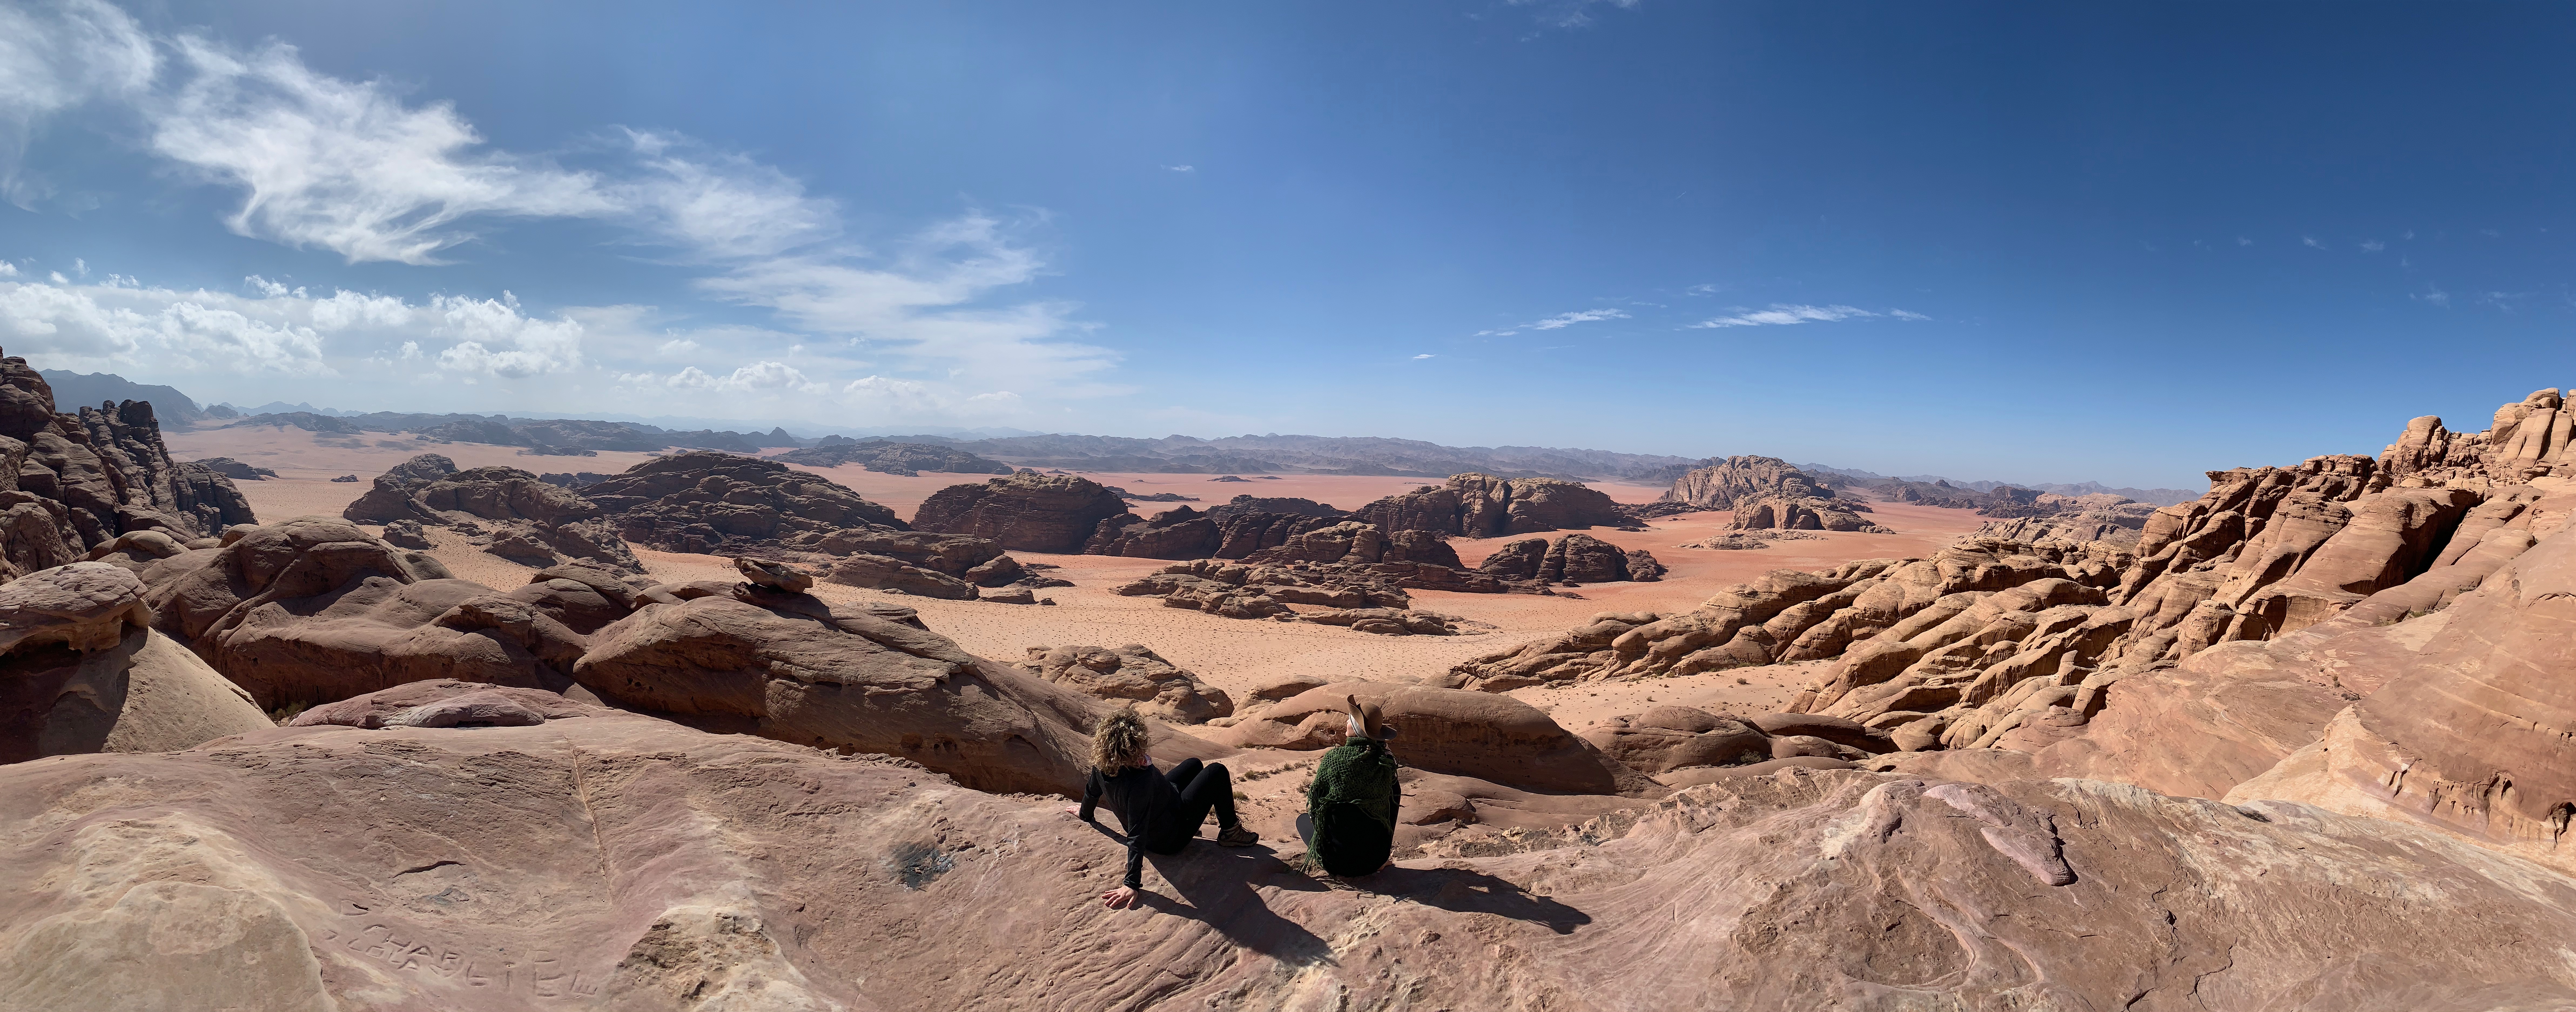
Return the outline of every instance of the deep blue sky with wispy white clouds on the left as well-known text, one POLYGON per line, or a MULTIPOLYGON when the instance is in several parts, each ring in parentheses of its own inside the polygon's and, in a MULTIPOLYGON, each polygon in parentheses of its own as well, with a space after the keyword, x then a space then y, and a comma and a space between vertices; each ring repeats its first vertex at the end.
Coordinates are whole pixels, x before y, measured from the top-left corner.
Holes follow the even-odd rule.
POLYGON ((240 404, 2195 487, 2576 384, 2571 28, 0 0, 0 345, 240 404))

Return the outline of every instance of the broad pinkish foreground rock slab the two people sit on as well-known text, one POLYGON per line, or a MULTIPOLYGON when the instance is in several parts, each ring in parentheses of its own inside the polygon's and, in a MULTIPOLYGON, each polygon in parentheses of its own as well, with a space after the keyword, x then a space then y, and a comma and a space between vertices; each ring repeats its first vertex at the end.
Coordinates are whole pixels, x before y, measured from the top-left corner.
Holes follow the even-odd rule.
MULTIPOLYGON (((2566 878, 2295 803, 1795 770, 1409 860, 1368 888, 1319 888, 1260 850, 1190 847, 1151 860, 1149 912, 1108 912, 1095 896, 1115 883, 1115 839, 1066 824, 1059 803, 963 791, 902 760, 554 706, 580 716, 296 726, 224 749, 10 767, 0 950, 44 958, 0 963, 0 999, 1589 1009, 1651 994, 1700 1009, 2434 1012, 2576 999, 2555 950, 2532 945, 2576 935, 2566 878), (376 796, 407 801, 348 803, 376 796), (1512 953, 1510 973, 1494 953, 1512 953)), ((1414 775, 1406 814, 1502 809, 1492 793, 1435 793, 1445 783, 1414 775)))

